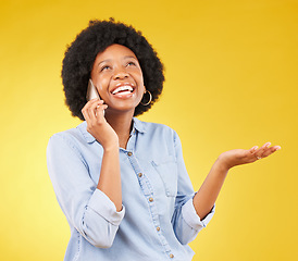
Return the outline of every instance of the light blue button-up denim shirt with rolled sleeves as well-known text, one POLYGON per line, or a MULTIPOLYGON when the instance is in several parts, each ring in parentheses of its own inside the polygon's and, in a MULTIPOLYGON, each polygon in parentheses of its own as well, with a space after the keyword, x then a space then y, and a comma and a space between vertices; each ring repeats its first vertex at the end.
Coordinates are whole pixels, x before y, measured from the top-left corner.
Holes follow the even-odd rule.
POLYGON ((83 122, 58 133, 47 148, 48 170, 71 227, 66 261, 190 261, 200 221, 177 134, 162 124, 133 120, 120 148, 123 208, 97 188, 102 146, 83 122))

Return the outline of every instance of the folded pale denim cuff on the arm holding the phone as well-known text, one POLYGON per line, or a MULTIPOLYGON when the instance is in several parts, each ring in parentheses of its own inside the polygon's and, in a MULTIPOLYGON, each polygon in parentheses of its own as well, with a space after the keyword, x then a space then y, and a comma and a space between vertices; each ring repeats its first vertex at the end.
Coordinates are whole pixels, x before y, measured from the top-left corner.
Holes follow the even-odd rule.
POLYGON ((117 212, 115 204, 99 189, 95 190, 89 200, 88 207, 115 226, 120 225, 125 214, 124 206, 122 206, 122 210, 117 212))

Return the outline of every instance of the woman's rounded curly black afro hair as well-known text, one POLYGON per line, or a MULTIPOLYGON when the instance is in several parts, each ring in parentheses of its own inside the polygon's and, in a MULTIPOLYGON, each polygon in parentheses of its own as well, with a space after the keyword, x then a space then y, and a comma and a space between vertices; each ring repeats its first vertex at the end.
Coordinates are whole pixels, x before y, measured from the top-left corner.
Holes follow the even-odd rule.
POLYGON ((139 103, 136 107, 134 116, 148 111, 158 100, 164 82, 163 64, 141 32, 113 18, 94 20, 67 47, 62 62, 63 90, 73 116, 84 121, 80 110, 87 102, 86 92, 94 62, 99 52, 113 44, 125 46, 135 53, 142 71, 146 89, 152 95, 152 101, 148 105, 139 103))

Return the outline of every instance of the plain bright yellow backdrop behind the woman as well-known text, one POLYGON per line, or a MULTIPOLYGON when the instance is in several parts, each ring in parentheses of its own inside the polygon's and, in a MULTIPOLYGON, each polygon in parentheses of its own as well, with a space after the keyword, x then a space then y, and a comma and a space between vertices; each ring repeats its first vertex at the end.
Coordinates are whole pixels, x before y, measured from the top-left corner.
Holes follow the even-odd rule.
POLYGON ((298 260, 298 1, 0 3, 0 259, 63 260, 70 231, 47 172, 49 137, 76 126, 61 61, 91 18, 133 24, 165 65, 140 120, 181 136, 198 189, 216 157, 265 141, 282 150, 229 172, 194 260, 298 260))

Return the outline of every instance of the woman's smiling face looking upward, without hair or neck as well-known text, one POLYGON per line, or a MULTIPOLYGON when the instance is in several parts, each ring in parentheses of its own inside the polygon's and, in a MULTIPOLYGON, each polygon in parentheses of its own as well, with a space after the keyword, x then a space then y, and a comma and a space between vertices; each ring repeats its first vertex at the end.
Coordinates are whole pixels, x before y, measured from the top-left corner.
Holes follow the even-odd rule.
POLYGON ((138 59, 131 49, 121 45, 109 46, 97 54, 91 79, 108 104, 107 113, 134 112, 145 92, 138 59))

